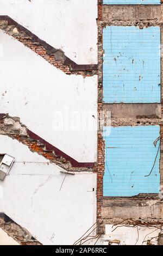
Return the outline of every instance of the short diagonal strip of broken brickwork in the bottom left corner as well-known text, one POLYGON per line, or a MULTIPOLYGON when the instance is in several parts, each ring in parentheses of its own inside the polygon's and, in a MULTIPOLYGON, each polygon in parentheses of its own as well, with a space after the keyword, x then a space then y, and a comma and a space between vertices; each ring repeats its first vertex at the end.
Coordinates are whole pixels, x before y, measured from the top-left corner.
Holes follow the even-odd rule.
POLYGON ((30 233, 15 223, 7 215, 0 212, 0 228, 9 236, 16 240, 20 245, 42 245, 30 233))

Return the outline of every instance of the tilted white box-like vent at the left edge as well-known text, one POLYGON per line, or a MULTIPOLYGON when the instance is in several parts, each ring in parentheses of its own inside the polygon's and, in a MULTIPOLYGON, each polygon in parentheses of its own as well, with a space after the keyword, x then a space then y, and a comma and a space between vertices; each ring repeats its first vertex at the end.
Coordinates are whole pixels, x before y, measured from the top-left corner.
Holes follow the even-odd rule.
POLYGON ((15 161, 15 158, 8 154, 3 154, 1 155, 0 159, 0 180, 4 180, 5 176, 7 176, 10 172, 10 169, 15 161))

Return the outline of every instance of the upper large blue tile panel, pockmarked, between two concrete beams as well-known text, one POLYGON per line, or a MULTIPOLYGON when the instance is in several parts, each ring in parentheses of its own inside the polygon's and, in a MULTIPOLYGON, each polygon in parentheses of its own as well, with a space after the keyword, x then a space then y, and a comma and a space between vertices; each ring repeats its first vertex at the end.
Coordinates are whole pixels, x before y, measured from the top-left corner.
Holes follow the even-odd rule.
POLYGON ((105 103, 160 102, 160 27, 103 30, 105 103))

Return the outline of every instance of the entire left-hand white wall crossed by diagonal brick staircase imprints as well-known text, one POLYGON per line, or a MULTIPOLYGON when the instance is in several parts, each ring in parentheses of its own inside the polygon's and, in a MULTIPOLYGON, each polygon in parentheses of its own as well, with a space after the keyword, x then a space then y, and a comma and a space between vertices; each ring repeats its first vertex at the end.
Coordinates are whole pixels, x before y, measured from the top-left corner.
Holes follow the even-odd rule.
POLYGON ((0 228, 21 245, 72 245, 96 223, 96 19, 94 0, 0 1, 0 154, 15 159, 0 228))

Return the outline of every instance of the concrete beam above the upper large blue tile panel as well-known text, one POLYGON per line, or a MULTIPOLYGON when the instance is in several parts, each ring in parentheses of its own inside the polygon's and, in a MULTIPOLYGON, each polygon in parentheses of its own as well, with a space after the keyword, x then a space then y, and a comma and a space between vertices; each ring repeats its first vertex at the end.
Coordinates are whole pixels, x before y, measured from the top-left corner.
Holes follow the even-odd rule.
POLYGON ((161 5, 103 5, 103 20, 161 20, 161 5))

